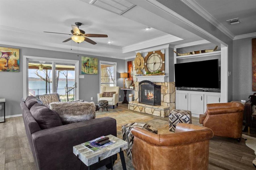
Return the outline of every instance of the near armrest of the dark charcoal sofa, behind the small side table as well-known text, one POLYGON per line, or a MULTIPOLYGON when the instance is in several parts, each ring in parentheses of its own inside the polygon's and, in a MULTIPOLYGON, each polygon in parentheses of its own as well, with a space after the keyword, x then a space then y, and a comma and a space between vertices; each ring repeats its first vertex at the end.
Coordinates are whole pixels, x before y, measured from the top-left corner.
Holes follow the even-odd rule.
POLYGON ((32 141, 38 166, 58 169, 65 163, 76 164, 78 160, 73 154, 73 146, 110 134, 116 136, 116 120, 110 117, 37 131, 32 134, 32 141))

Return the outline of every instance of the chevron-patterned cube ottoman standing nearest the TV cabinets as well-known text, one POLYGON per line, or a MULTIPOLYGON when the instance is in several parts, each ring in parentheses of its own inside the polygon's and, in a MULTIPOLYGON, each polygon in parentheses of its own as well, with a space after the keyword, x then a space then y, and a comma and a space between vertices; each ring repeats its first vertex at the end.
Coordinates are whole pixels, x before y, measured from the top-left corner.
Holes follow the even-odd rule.
POLYGON ((172 110, 169 114, 169 131, 175 132, 178 123, 192 124, 191 111, 186 110, 172 110))

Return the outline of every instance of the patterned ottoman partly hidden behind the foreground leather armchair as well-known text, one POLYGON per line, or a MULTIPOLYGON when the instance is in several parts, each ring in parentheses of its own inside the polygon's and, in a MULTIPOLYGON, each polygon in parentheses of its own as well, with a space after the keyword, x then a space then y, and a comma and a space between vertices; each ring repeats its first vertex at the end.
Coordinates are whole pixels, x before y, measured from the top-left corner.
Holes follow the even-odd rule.
POLYGON ((132 160, 132 145, 133 145, 133 139, 134 139, 134 136, 132 135, 131 130, 134 127, 148 130, 152 133, 157 134, 157 129, 145 122, 134 122, 134 123, 124 124, 122 126, 123 140, 128 142, 128 148, 125 150, 125 152, 131 160, 132 160))

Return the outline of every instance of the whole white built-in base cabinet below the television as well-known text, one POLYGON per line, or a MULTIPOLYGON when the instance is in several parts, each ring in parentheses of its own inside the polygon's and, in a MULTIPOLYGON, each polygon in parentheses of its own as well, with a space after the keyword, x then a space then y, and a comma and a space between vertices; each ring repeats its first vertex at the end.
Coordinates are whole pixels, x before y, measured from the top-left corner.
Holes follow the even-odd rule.
POLYGON ((189 110, 194 117, 204 114, 209 103, 220 103, 220 93, 176 90, 176 109, 189 110))

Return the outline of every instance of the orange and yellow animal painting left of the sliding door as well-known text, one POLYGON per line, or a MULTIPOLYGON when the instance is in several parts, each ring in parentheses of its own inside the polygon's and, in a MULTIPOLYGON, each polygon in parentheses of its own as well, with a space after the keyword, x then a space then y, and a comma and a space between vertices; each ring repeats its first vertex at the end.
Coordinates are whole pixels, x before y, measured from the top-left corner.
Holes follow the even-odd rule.
POLYGON ((20 71, 20 50, 0 47, 0 71, 20 71))

